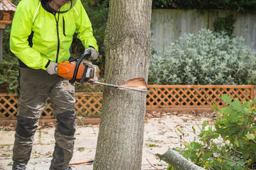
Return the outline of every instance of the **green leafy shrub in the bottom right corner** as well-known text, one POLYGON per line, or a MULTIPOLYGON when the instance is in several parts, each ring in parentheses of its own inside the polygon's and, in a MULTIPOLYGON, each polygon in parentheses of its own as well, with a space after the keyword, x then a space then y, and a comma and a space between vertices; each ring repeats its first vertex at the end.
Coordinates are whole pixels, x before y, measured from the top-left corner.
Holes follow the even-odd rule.
POLYGON ((206 121, 198 135, 199 142, 186 145, 183 157, 207 169, 253 169, 256 166, 256 99, 235 101, 222 97, 228 107, 222 108, 214 128, 206 121))

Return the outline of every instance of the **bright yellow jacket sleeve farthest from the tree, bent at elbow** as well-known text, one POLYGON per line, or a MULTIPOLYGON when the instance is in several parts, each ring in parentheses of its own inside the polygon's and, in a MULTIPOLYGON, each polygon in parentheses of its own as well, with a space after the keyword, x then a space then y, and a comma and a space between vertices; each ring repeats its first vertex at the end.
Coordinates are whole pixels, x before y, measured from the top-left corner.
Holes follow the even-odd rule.
POLYGON ((28 45, 28 36, 33 26, 33 10, 27 2, 21 1, 16 8, 11 26, 10 49, 26 66, 46 70, 49 60, 28 45))

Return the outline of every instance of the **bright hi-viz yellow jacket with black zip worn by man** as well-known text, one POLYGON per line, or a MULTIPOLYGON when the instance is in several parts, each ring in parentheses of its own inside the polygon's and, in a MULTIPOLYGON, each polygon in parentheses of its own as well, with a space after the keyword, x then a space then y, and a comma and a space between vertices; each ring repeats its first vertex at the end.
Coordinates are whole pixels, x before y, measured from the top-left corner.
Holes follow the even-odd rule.
POLYGON ((98 50, 92 24, 80 0, 75 0, 65 13, 50 12, 44 4, 43 0, 22 0, 16 8, 10 49, 20 65, 46 70, 50 62, 68 60, 74 33, 78 33, 85 49, 98 50))

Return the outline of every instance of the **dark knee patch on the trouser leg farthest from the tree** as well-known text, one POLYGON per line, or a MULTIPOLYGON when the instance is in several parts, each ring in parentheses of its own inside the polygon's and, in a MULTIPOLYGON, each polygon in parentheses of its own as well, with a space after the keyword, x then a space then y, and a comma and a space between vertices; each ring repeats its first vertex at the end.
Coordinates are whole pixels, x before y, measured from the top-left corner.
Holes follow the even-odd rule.
POLYGON ((21 137, 31 137, 35 134, 36 128, 38 128, 38 119, 17 115, 16 132, 18 135, 21 137))

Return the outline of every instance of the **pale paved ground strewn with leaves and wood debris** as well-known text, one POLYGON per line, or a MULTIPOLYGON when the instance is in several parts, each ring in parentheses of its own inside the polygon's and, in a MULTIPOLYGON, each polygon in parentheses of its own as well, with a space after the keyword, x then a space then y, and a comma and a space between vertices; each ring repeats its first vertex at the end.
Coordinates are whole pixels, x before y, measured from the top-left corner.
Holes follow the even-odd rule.
MULTIPOLYGON (((144 147, 142 155, 142 169, 166 169, 166 162, 159 161, 154 154, 164 154, 169 147, 183 147, 183 142, 192 142, 196 135, 193 128, 199 132, 203 120, 212 121, 211 118, 189 114, 155 113, 146 115, 144 131, 144 147), (198 125, 197 125, 198 124, 198 125), (183 134, 181 134, 181 132, 183 134), (183 140, 181 140, 183 136, 183 140)), ((3 128, 3 127, 2 127, 3 128)), ((78 126, 75 133, 75 152, 70 163, 86 162, 94 159, 97 144, 99 125, 78 126)), ((50 166, 52 159, 54 128, 41 128, 37 130, 31 154, 31 160, 27 165, 28 170, 45 170, 50 166)), ((11 169, 12 147, 14 142, 14 130, 0 130, 0 169, 11 169)), ((73 165, 74 170, 91 170, 92 164, 73 165)))

